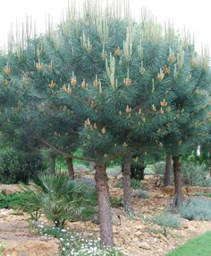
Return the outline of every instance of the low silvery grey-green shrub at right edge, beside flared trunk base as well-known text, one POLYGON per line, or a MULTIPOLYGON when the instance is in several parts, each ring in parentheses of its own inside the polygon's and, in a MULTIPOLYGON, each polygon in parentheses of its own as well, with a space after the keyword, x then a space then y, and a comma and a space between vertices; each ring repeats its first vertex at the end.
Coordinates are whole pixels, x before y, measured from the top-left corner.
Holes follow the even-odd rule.
POLYGON ((179 209, 181 217, 189 220, 211 220, 211 200, 189 199, 179 209))

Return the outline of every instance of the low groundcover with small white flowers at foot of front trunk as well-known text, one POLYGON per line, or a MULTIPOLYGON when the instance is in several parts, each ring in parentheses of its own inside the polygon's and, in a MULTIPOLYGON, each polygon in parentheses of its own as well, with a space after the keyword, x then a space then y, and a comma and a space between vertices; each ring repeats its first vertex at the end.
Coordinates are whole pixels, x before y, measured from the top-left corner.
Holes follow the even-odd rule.
POLYGON ((36 234, 45 234, 59 239, 62 245, 61 256, 125 256, 117 249, 100 246, 95 234, 78 234, 69 228, 61 229, 34 222, 30 223, 30 228, 36 234))

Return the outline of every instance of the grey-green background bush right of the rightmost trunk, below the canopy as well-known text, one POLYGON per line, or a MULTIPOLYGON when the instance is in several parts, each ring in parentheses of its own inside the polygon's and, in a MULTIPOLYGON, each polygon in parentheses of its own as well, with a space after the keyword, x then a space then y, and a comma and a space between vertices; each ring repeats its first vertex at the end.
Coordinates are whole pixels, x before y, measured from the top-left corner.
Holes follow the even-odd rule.
POLYGON ((208 180, 207 175, 208 171, 205 164, 198 164, 193 162, 181 163, 181 180, 185 185, 207 186, 211 183, 208 180))

